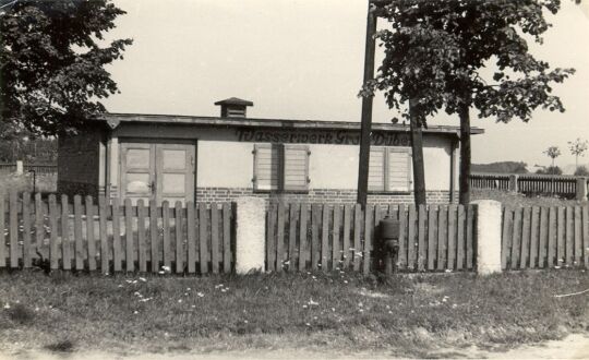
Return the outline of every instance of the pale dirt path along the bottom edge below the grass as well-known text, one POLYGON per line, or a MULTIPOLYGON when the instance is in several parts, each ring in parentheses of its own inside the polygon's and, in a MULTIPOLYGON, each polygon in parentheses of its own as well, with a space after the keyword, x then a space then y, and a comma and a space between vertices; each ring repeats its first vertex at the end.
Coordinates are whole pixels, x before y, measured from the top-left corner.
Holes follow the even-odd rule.
MULTIPOLYGON (((562 340, 527 345, 508 351, 489 351, 477 347, 466 349, 444 349, 429 355, 431 358, 465 358, 465 359, 589 359, 589 334, 574 334, 562 340)), ((399 359, 393 352, 356 352, 333 353, 306 350, 248 350, 212 353, 132 353, 116 355, 109 352, 73 352, 48 353, 40 351, 22 351, 14 355, 0 355, 0 360, 22 359, 121 359, 121 360, 188 360, 188 359, 399 359)))

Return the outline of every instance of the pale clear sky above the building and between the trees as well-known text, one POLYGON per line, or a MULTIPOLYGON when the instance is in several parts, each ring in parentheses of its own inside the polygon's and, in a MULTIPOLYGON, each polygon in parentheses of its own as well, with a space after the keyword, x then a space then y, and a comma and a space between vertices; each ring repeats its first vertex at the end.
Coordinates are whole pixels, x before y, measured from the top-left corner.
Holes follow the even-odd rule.
MULTIPOLYGON (((121 94, 104 101, 111 112, 218 116, 213 103, 231 96, 252 100, 252 118, 360 121, 365 0, 115 0, 128 13, 107 39, 134 43, 108 68, 121 94)), ((550 165, 542 152, 562 151, 556 165, 574 164, 567 142, 589 140, 589 2, 563 0, 548 19, 553 27, 538 58, 576 74, 554 93, 567 111, 536 111, 530 122, 478 119, 485 133, 473 136, 472 161, 550 165)), ((380 20, 380 27, 387 26, 380 20)), ((377 49, 376 67, 382 59, 377 49)), ((394 113, 382 93, 374 122, 394 113)), ((458 125, 445 113, 431 124, 458 125)), ((589 164, 589 155, 579 159, 589 164)))

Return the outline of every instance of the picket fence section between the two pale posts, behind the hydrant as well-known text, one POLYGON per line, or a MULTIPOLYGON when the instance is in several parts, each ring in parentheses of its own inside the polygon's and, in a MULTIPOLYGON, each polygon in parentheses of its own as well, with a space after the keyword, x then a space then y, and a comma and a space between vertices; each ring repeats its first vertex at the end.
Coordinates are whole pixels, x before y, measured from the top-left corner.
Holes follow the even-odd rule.
POLYGON ((271 204, 266 220, 267 271, 361 271, 375 267, 378 221, 400 223, 401 272, 468 271, 476 265, 476 205, 366 206, 271 204))

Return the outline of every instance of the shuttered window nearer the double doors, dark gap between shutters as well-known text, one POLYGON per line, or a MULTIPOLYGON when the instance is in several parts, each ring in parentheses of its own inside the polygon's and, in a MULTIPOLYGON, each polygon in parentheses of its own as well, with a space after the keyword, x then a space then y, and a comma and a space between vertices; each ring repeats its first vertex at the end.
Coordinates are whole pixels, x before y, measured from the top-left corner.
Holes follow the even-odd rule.
POLYGON ((296 144, 254 145, 254 190, 308 191, 309 146, 296 144))

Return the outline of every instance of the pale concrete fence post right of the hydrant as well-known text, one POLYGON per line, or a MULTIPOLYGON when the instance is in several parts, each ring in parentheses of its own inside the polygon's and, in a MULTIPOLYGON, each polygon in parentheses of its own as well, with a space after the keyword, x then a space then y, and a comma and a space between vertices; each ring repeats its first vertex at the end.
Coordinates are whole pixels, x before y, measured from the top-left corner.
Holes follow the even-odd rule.
POLYGON ((501 203, 479 200, 477 204, 477 273, 501 273, 501 203))

